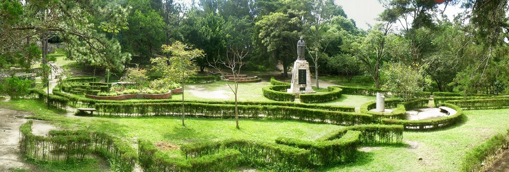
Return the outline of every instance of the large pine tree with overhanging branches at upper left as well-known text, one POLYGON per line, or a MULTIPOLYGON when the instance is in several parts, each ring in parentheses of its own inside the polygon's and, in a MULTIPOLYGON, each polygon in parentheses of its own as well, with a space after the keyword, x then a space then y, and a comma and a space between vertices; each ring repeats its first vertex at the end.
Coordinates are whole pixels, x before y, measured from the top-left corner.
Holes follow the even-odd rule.
MULTIPOLYGON (((31 42, 41 41, 42 62, 45 66, 48 61, 47 42, 51 37, 59 36, 65 44, 69 59, 89 61, 95 65, 112 66, 120 70, 124 66, 123 63, 130 58, 130 54, 122 53, 115 39, 105 37, 106 33, 117 33, 119 30, 127 29, 127 9, 116 3, 25 1, 21 4, 18 1, 3 1, 2 4, 8 4, 6 9, 9 12, 6 16, 10 21, 7 21, 6 25, 2 24, 0 35, 18 38, 10 42, 1 41, 0 47, 2 51, 5 50, 2 56, 28 50, 28 53, 22 53, 22 58, 31 61, 23 64, 34 63, 39 60, 34 58, 37 52, 34 51, 31 42), (30 46, 4 49, 18 46, 23 42, 30 46)), ((44 77, 47 77, 47 73, 44 77)))

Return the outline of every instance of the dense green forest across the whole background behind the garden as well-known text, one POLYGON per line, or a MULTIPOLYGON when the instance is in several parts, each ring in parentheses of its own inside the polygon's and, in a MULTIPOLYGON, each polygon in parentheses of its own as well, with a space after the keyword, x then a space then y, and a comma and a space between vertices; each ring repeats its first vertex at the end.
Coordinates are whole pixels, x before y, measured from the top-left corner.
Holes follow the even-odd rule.
POLYGON ((242 49, 247 70, 280 68, 288 77, 303 36, 315 76, 365 76, 379 88, 412 74, 428 91, 506 89, 507 1, 380 2, 378 24, 363 30, 332 0, 3 1, 0 65, 30 66, 40 54, 44 61, 34 42, 49 40, 64 44, 69 59, 122 71, 180 41, 205 52, 195 59, 202 72, 211 59, 242 49), (447 6, 464 11, 451 21, 447 6))

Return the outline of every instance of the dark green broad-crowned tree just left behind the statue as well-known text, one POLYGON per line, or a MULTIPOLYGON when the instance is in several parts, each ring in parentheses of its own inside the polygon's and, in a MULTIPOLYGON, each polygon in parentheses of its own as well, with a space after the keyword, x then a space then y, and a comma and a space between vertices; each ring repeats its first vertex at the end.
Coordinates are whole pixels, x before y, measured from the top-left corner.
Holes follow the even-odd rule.
POLYGON ((285 78, 288 77, 288 66, 296 56, 295 43, 300 25, 298 17, 291 18, 280 12, 270 13, 256 22, 262 44, 267 47, 267 52, 271 52, 272 56, 281 62, 285 78))

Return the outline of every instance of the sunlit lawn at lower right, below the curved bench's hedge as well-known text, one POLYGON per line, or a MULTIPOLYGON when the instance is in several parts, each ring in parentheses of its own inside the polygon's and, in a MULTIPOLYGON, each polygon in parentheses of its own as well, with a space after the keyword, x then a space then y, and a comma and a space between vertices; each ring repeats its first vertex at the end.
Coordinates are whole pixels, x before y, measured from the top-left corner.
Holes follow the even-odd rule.
POLYGON ((463 123, 430 132, 405 132, 408 147, 375 147, 360 161, 329 171, 458 171, 464 153, 509 129, 509 109, 465 111, 463 123), (422 158, 422 160, 418 160, 422 158))

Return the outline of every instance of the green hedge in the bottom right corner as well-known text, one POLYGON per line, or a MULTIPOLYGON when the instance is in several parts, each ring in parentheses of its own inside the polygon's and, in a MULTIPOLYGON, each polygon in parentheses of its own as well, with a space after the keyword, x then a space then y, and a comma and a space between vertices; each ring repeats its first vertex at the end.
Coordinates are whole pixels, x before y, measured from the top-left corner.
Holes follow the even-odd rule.
POLYGON ((504 134, 496 134, 488 141, 467 151, 461 161, 461 171, 486 171, 496 160, 496 155, 509 146, 509 130, 504 134))

